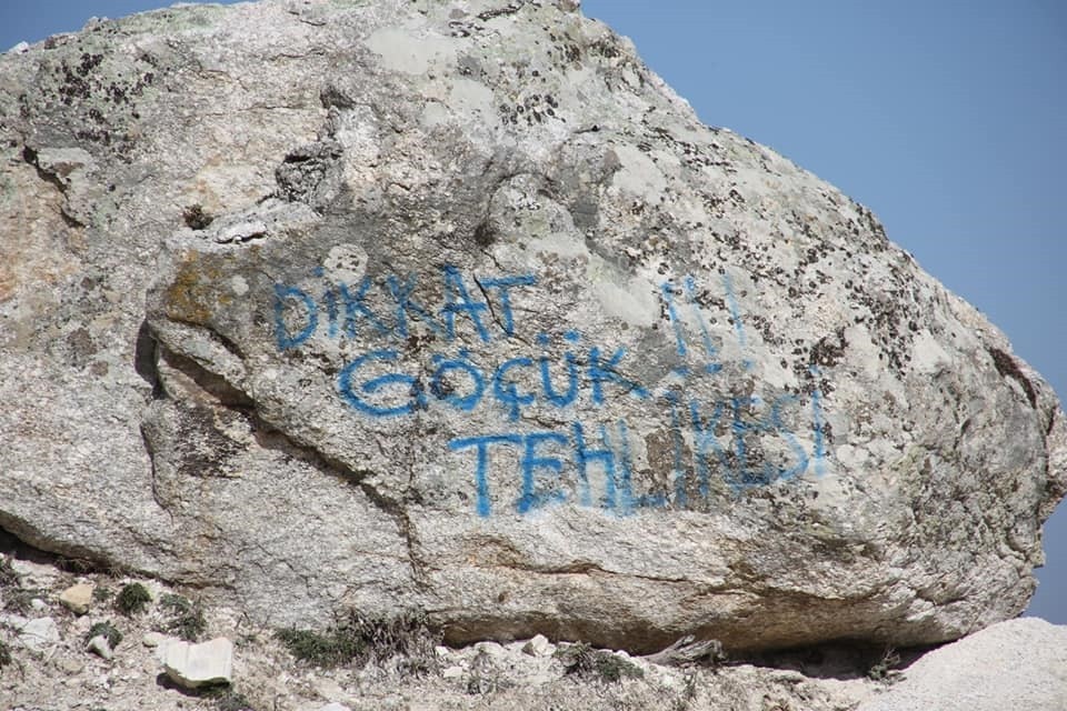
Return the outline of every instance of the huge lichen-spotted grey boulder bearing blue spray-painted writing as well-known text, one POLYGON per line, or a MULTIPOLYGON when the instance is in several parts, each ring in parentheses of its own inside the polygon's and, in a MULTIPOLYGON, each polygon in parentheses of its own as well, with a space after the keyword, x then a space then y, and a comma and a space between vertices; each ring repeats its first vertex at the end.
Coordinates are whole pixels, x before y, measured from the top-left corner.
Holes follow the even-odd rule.
POLYGON ((0 59, 0 525, 452 641, 1020 611, 1051 389, 574 6, 181 7, 0 59))

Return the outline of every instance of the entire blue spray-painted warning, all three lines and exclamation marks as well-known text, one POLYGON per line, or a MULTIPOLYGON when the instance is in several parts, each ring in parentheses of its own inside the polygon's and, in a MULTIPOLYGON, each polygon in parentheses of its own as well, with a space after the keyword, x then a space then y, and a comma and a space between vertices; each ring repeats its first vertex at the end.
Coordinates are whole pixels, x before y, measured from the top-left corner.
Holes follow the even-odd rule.
MULTIPOLYGON (((496 422, 492 431, 448 442, 472 474, 479 515, 491 515, 501 500, 520 514, 561 502, 618 514, 696 508, 720 489, 822 474, 818 390, 807 399, 690 394, 696 380, 721 378, 724 370, 722 334, 714 332, 700 304, 707 292, 691 277, 660 287, 677 364, 669 377, 640 382, 627 374, 635 372, 634 358, 621 346, 588 342, 574 329, 525 332, 519 314, 527 311, 518 304, 537 289, 535 274, 480 277, 445 266, 421 278, 363 276, 353 283, 321 270, 315 276, 313 286, 275 284, 278 350, 322 338, 352 343, 358 353, 343 362, 335 385, 361 417, 411 418, 443 408, 459 421, 496 422), (412 343, 432 346, 412 359, 412 343), (662 427, 632 431, 610 414, 616 399, 659 413, 662 427), (555 424, 527 429, 546 421, 555 424)), ((741 311, 727 276, 720 286, 727 332, 747 371, 741 311)), ((699 390, 709 391, 718 390, 699 390)))

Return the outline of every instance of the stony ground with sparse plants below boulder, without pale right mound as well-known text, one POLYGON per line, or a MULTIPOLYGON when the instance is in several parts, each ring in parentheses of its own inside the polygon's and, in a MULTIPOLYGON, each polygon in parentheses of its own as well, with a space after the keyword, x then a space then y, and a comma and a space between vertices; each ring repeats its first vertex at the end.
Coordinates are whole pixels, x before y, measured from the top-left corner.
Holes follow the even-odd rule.
MULTIPOLYGON (((277 630, 250 624, 231 610, 199 610, 189 591, 154 580, 77 572, 69 562, 26 554, 0 554, 0 709, 19 711, 844 711, 890 688, 896 675, 879 664, 878 654, 856 650, 781 657, 772 662, 777 667, 768 660, 716 661, 715 655, 674 665, 544 638, 450 649, 436 645, 432 637, 401 640, 398 647, 389 634, 379 640, 386 645, 381 659, 370 650, 366 664, 357 659, 329 668, 297 659, 277 630), (128 595, 122 592, 132 583, 141 583, 151 600, 140 612, 123 612, 128 595), (79 593, 88 602, 83 613, 79 593), (181 600, 189 607, 176 604, 181 600), (101 623, 121 633, 113 650, 90 648, 90 630, 99 632, 101 623), (183 633, 233 642, 230 684, 187 689, 167 675, 159 649, 183 633), (403 653, 390 654, 391 649, 403 653)), ((329 639, 308 635, 303 641, 312 644, 306 653, 310 649, 328 661, 329 639)))

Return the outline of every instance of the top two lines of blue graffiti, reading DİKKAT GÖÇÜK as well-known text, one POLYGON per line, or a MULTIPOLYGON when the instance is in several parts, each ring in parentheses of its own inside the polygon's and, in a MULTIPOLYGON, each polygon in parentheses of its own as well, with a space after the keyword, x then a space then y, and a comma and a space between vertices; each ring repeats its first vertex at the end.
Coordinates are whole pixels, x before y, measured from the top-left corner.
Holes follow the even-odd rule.
MULTIPOLYGON (((516 323, 511 304, 511 291, 537 283, 532 274, 477 279, 478 292, 493 294, 493 303, 471 297, 473 291, 455 267, 442 269, 445 302, 431 310, 416 301, 413 291, 418 286, 413 276, 400 279, 389 276, 375 284, 365 277, 359 284, 327 284, 320 299, 293 286, 275 286, 275 336, 279 350, 296 348, 315 333, 325 330, 329 338, 345 336, 349 339, 371 337, 375 340, 403 342, 412 331, 411 322, 418 321, 443 343, 458 338, 460 321, 476 343, 493 340, 492 328, 502 331, 499 338, 515 336, 516 323), (388 294, 392 308, 388 313, 380 307, 375 311, 369 303, 371 288, 377 286, 381 297, 388 294), (499 313, 499 323, 490 317, 499 313)), ((626 349, 601 349, 591 346, 575 352, 581 340, 578 331, 562 336, 566 351, 559 357, 564 374, 554 379, 556 357, 549 353, 552 346, 549 337, 540 333, 539 354, 511 358, 492 369, 478 365, 467 349, 453 353, 437 353, 431 358, 432 368, 428 385, 416 374, 390 372, 389 365, 401 360, 396 348, 368 351, 340 371, 337 380, 341 398, 356 411, 372 418, 389 418, 425 410, 429 399, 436 399, 463 412, 471 412, 481 402, 496 402, 509 420, 518 420, 525 408, 539 403, 542 407, 567 408, 586 393, 594 405, 601 405, 608 397, 608 388, 638 398, 647 398, 648 391, 640 384, 620 374, 626 349), (385 372, 383 372, 385 371, 385 372), (519 380, 532 381, 532 391, 523 389, 519 380)))

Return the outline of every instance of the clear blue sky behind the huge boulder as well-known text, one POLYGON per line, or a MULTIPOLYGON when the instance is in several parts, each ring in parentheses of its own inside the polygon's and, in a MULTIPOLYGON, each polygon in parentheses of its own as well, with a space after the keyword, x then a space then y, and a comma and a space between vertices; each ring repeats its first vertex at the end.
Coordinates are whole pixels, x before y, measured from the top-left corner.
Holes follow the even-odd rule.
MULTIPOLYGON (((0 49, 159 0, 2 1, 0 49)), ((701 120, 862 202, 1067 395, 1067 3, 585 0, 701 120)), ((1067 624, 1067 507, 1029 613, 1067 624)))

